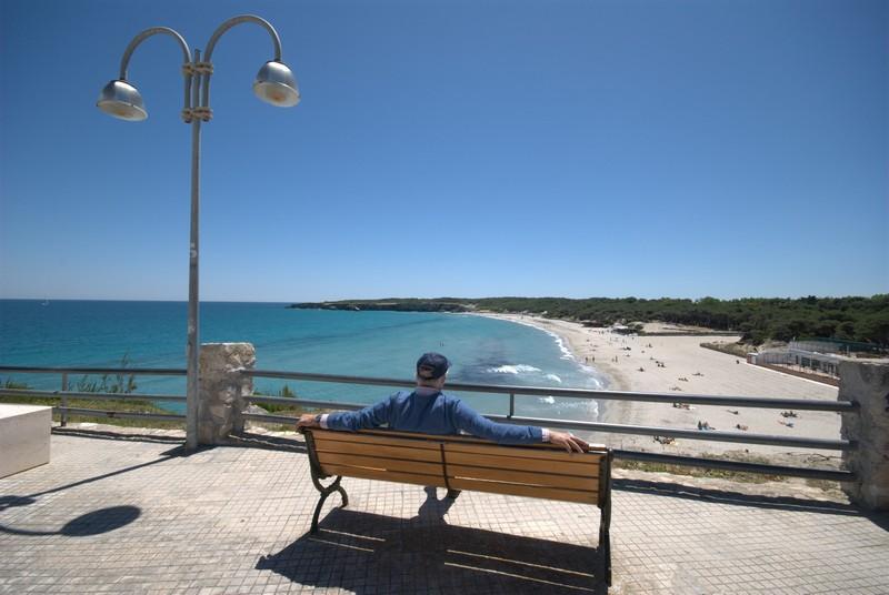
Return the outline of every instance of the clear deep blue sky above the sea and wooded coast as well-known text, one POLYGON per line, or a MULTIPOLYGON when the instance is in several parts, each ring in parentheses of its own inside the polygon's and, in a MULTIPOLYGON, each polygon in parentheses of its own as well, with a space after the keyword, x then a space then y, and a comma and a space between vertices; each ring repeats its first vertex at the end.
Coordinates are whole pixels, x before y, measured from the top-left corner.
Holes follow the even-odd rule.
POLYGON ((186 300, 180 50, 213 54, 201 298, 889 292, 889 2, 0 1, 0 296, 186 300))

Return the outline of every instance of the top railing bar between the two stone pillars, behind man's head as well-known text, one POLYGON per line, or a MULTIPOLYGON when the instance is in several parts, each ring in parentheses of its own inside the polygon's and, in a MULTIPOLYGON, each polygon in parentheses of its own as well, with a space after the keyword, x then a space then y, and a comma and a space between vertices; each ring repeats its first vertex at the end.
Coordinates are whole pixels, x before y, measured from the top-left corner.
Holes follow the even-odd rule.
MULTIPOLYGON (((270 370, 244 370, 243 374, 253 377, 274 377, 312 382, 333 382, 342 384, 370 384, 377 386, 417 385, 414 381, 398 379, 376 379, 367 376, 343 376, 339 374, 316 374, 307 372, 283 372, 270 370)), ((701 394, 641 393, 625 391, 590 391, 585 389, 558 389, 518 385, 461 384, 448 383, 451 391, 470 391, 531 396, 563 396, 570 399, 601 399, 613 401, 642 401, 650 403, 690 403, 697 405, 721 405, 736 407, 790 409, 800 411, 853 411, 857 403, 849 401, 817 401, 811 399, 781 399, 768 396, 713 396, 701 394)))

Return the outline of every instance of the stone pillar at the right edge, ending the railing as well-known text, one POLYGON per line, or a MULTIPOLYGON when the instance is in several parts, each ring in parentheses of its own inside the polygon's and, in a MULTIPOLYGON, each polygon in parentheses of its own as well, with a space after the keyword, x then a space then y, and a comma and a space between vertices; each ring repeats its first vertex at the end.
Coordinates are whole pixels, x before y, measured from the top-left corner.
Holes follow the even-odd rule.
POLYGON ((871 511, 889 510, 889 363, 840 363, 840 401, 858 403, 842 414, 841 435, 858 442, 842 453, 846 468, 858 474, 842 490, 856 504, 871 511))

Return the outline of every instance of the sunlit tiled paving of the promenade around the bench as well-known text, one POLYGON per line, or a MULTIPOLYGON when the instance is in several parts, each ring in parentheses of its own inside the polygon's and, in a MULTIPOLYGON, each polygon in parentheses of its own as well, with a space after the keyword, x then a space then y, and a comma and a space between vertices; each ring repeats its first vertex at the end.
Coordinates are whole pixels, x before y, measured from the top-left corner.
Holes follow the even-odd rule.
MULTIPOLYGON (((344 480, 316 538, 299 445, 180 442, 57 431, 0 480, 0 593, 603 593, 595 507, 344 480)), ((609 593, 889 593, 889 515, 701 485, 616 483, 609 593)))

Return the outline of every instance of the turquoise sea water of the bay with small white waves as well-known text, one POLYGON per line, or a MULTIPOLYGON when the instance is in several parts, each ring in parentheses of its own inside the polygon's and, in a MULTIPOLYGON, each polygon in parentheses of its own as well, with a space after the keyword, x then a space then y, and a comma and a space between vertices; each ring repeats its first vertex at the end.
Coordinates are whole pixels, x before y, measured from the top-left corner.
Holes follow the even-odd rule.
MULTIPOLYGON (((201 304, 202 343, 247 341, 260 370, 317 372, 409 380, 426 351, 446 354, 450 382, 600 389, 591 367, 575 361, 543 331, 468 314, 289 310, 277 303, 201 304)), ((0 300, 0 364, 36 366, 186 367, 184 302, 0 300)), ((58 375, 0 379, 57 390, 58 375)), ((72 377, 71 382, 80 377, 72 377)), ((183 377, 138 376, 137 392, 184 394, 183 377)), ((257 379, 262 392, 284 381, 257 379)), ((287 381, 306 399, 372 403, 392 391, 287 381)), ((486 413, 506 413, 507 399, 461 394, 486 413)), ((171 409, 177 405, 164 405, 171 409)), ((595 402, 526 396, 517 414, 596 418, 595 402)))

